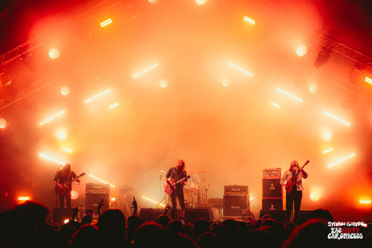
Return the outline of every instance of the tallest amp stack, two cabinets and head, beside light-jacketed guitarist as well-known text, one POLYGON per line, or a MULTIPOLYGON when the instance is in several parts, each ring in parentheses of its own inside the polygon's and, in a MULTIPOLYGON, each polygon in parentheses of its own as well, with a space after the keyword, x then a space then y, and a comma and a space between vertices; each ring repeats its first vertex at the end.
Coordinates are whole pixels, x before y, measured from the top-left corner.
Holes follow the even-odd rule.
POLYGON ((280 185, 280 168, 263 170, 262 209, 283 209, 283 187, 280 185))

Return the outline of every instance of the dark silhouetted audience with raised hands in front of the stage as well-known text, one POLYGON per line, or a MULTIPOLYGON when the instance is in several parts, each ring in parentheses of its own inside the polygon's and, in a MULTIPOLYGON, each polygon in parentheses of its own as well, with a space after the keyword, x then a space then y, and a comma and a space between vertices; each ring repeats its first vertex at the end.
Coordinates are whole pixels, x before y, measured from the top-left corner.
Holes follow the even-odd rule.
MULTIPOLYGON (((74 211, 74 215, 76 211, 74 211)), ((371 248, 372 226, 359 227, 362 239, 328 239, 327 210, 314 210, 309 219, 294 223, 270 219, 194 223, 160 215, 144 221, 126 218, 119 209, 100 214, 92 225, 86 218, 59 226, 47 224, 48 210, 28 201, 0 214, 0 248, 371 248)), ((151 212, 149 211, 149 219, 151 212)))

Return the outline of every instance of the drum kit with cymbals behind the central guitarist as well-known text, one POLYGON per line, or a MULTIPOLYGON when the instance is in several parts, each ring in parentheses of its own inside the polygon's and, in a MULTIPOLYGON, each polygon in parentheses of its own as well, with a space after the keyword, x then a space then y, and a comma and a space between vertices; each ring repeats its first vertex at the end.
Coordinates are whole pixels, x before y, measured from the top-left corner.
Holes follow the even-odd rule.
MULTIPOLYGON (((164 171, 160 171, 166 173, 164 171)), ((201 174, 202 179, 201 182, 195 181, 187 181, 187 184, 184 186, 184 198, 185 198, 185 206, 186 208, 197 208, 197 207, 205 207, 208 206, 207 201, 207 192, 209 188, 205 186, 205 182, 209 181, 209 179, 205 179, 204 174, 209 171, 201 170, 196 172, 196 174, 201 174)))

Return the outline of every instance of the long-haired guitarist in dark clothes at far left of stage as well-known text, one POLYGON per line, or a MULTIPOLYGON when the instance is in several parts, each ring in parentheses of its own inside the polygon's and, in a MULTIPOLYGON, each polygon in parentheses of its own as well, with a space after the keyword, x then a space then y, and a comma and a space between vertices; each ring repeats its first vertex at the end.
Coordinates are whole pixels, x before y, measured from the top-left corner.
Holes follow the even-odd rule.
POLYGON ((54 176, 54 184, 60 187, 61 189, 65 189, 64 194, 60 195, 60 207, 64 207, 64 198, 66 198, 66 205, 67 207, 71 207, 71 184, 64 186, 65 182, 71 181, 72 178, 75 178, 75 181, 78 183, 80 179, 77 177, 75 172, 71 171, 71 165, 66 163, 62 170, 58 171, 54 176))

